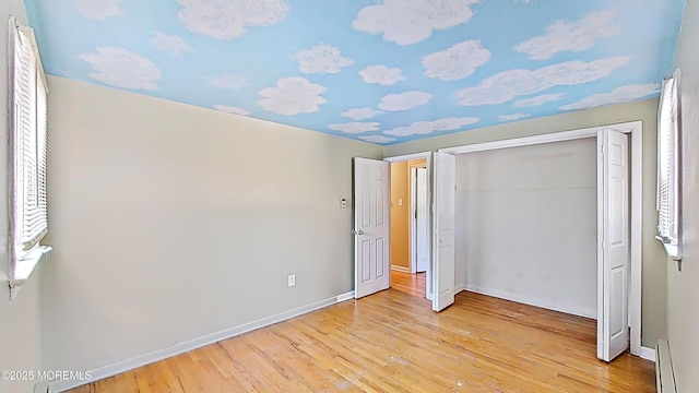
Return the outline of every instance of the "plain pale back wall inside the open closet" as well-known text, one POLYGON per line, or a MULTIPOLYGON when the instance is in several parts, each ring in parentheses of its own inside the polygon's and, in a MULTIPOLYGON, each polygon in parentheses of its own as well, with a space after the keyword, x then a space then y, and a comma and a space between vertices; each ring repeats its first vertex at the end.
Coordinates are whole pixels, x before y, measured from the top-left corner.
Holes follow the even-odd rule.
POLYGON ((594 318, 596 141, 457 156, 457 286, 594 318))

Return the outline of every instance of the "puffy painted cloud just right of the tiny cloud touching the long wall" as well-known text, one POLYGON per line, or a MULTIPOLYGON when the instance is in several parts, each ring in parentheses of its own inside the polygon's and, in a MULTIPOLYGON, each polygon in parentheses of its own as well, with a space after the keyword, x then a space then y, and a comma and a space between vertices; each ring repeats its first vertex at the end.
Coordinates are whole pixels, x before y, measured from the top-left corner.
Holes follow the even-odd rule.
POLYGON ((280 115, 312 114, 327 100, 321 94, 327 88, 299 76, 284 78, 276 87, 260 91, 257 104, 264 110, 280 115))

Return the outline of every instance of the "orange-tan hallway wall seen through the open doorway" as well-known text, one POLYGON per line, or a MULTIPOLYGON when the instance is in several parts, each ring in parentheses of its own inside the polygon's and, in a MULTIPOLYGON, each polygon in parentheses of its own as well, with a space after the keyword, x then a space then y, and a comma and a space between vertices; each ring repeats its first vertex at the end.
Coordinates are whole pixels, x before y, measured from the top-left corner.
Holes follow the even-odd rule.
POLYGON ((407 162, 391 163, 391 264, 405 269, 411 266, 410 195, 407 162))

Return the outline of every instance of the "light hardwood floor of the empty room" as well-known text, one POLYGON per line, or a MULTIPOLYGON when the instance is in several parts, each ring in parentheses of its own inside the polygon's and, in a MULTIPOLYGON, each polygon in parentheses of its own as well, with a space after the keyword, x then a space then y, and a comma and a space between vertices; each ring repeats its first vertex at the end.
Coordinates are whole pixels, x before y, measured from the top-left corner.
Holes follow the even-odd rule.
POLYGON ((595 358, 592 320, 465 291, 436 313, 424 278, 392 277, 392 289, 72 392, 655 391, 653 364, 595 358))

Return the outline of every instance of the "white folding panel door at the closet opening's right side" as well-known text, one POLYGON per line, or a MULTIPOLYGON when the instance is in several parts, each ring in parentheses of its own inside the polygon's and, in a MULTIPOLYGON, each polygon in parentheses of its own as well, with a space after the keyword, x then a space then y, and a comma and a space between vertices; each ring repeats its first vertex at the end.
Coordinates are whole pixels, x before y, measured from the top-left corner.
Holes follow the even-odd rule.
POLYGON ((629 146, 612 130, 597 144, 597 357, 612 361, 629 343, 629 146))

